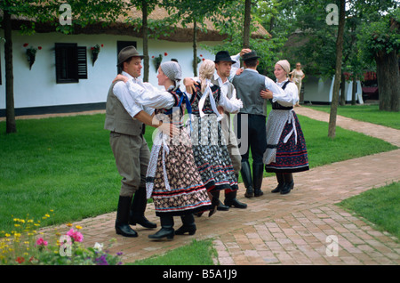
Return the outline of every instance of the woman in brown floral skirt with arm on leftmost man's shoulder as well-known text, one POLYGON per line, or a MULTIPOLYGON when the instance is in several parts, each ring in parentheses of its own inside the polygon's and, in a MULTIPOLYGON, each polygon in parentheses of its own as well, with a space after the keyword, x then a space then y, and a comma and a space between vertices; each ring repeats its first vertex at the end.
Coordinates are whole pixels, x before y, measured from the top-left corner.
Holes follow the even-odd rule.
POLYGON ((179 128, 173 136, 156 130, 147 174, 148 198, 154 199, 156 215, 160 217, 161 230, 149 235, 149 239, 173 239, 173 236, 196 232, 193 214, 210 209, 211 201, 195 165, 192 145, 182 117, 186 105, 190 105, 186 93, 180 91, 180 65, 167 61, 158 69, 158 90, 148 83, 142 85, 124 81, 140 105, 152 107, 163 123, 179 128), (183 225, 173 229, 173 216, 180 216, 183 225))

